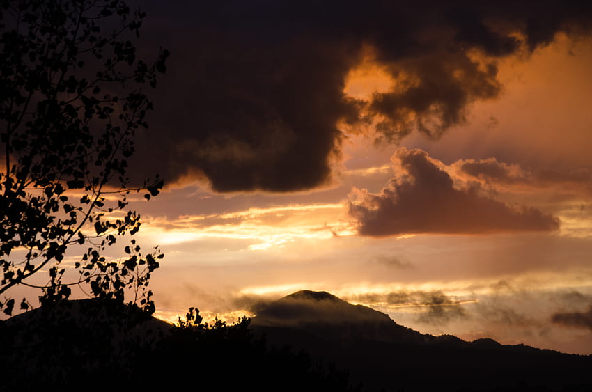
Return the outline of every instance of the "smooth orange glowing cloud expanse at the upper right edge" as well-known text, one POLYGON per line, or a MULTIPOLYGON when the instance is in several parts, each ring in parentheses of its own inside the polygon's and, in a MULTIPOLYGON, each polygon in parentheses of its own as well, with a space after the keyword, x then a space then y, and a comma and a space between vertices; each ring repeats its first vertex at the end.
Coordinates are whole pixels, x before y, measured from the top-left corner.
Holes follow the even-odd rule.
POLYGON ((412 134, 402 141, 450 164, 488 159, 533 171, 590 168, 592 40, 559 34, 529 56, 498 61, 499 99, 475 102, 467 123, 435 141, 412 134))

